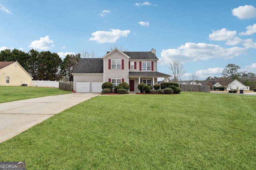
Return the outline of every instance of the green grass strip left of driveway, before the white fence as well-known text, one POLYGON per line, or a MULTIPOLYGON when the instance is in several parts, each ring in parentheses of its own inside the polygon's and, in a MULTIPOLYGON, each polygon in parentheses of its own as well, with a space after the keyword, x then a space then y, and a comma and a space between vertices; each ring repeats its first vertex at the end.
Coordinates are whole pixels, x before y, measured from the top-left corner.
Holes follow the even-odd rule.
POLYGON ((60 90, 58 88, 0 86, 0 103, 68 93, 71 92, 60 90))

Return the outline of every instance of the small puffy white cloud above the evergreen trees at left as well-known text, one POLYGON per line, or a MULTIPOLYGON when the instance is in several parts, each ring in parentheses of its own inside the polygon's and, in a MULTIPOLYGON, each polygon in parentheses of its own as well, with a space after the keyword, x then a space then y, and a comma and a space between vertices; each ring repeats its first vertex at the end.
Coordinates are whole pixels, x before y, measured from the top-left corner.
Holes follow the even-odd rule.
POLYGON ((49 36, 46 35, 45 37, 41 37, 40 40, 32 41, 32 43, 28 46, 33 49, 40 49, 40 50, 49 50, 54 47, 54 42, 49 39, 49 36))

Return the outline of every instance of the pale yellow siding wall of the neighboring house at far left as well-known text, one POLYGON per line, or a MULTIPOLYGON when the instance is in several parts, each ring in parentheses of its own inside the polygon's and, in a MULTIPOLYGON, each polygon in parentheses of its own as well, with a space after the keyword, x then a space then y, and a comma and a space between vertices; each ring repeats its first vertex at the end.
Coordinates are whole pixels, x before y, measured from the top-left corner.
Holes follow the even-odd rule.
POLYGON ((28 84, 31 86, 31 76, 18 64, 13 63, 0 70, 0 86, 21 86, 28 84), (6 77, 9 77, 9 83, 6 83, 6 77))

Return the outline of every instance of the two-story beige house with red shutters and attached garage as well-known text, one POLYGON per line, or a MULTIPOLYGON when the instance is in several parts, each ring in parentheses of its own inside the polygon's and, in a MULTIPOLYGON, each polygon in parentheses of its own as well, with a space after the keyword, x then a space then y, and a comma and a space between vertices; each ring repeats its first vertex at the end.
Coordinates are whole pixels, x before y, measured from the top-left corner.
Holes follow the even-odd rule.
POLYGON ((118 86, 129 84, 129 92, 138 92, 138 84, 157 84, 157 78, 168 80, 170 75, 157 72, 156 50, 128 52, 114 49, 102 58, 80 59, 73 71, 76 92, 101 92, 104 82, 118 86))

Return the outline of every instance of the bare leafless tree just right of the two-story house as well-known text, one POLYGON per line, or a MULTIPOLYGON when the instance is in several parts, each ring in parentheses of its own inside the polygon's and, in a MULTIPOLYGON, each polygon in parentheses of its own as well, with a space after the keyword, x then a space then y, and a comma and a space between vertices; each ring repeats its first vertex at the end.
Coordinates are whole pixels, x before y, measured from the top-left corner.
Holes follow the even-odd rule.
POLYGON ((169 68, 172 70, 172 74, 173 74, 172 80, 174 82, 178 82, 180 80, 180 77, 186 72, 183 64, 180 63, 178 59, 172 60, 172 62, 169 64, 169 68))

